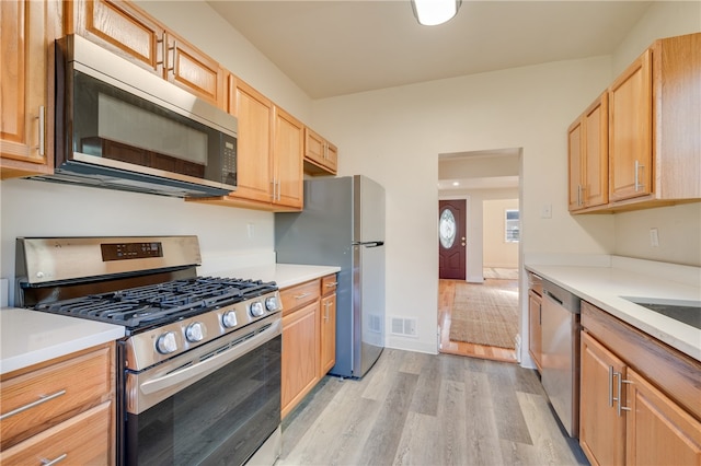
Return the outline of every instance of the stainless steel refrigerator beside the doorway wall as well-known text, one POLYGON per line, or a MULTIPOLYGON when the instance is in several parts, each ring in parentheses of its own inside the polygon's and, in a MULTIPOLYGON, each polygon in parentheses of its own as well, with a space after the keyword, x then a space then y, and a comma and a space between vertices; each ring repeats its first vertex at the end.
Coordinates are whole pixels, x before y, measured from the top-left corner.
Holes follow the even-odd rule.
POLYGON ((304 210, 275 214, 280 264, 338 266, 336 364, 363 377, 384 348, 384 188, 363 176, 304 182, 304 210))

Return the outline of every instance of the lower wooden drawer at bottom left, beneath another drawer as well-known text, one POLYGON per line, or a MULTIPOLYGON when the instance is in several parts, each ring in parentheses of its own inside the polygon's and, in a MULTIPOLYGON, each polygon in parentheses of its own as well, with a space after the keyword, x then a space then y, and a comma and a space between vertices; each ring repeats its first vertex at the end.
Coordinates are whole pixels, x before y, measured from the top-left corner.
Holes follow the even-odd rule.
POLYGON ((0 453, 3 465, 113 464, 112 401, 103 403, 0 453))

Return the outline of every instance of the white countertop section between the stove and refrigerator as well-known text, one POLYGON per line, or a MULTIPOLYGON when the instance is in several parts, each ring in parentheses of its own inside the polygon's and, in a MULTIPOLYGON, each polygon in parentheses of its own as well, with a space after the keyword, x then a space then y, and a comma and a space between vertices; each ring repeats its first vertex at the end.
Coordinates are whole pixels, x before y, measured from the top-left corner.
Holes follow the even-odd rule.
POLYGON ((268 264, 255 267, 242 267, 210 273, 218 277, 246 278, 275 281, 278 288, 288 288, 304 281, 325 277, 341 271, 336 266, 301 266, 295 264, 268 264))

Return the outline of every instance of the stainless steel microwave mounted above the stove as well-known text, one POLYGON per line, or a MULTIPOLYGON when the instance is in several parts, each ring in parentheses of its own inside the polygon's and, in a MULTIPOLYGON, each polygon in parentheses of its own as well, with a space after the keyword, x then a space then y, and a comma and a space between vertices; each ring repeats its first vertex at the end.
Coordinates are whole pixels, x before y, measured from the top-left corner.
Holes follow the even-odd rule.
POLYGON ((235 189, 235 117, 78 35, 55 51, 56 165, 38 179, 173 197, 235 189))

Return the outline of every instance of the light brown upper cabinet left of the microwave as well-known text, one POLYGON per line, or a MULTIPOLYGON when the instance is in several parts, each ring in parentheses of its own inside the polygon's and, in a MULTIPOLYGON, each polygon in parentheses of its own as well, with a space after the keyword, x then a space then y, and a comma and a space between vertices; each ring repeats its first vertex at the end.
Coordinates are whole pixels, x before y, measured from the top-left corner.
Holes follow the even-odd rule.
POLYGON ((54 63, 61 2, 0 1, 0 177, 54 170, 54 63), (51 77, 51 79, 49 79, 51 77))

